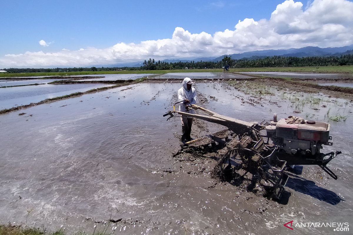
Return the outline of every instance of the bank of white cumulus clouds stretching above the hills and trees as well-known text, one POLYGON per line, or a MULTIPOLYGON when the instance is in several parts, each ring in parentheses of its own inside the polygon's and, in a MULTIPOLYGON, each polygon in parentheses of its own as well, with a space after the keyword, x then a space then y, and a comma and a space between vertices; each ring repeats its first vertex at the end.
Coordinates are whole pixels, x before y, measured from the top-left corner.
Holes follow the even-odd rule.
MULTIPOLYGON (((176 27, 170 38, 117 43, 111 47, 80 48, 77 51, 25 52, 0 57, 4 67, 94 66, 155 58, 220 56, 253 50, 306 46, 342 47, 353 44, 353 2, 309 0, 303 9, 299 1, 277 5, 269 19, 245 18, 212 35, 191 33, 176 27)), ((40 44, 48 46, 41 40, 40 44)))

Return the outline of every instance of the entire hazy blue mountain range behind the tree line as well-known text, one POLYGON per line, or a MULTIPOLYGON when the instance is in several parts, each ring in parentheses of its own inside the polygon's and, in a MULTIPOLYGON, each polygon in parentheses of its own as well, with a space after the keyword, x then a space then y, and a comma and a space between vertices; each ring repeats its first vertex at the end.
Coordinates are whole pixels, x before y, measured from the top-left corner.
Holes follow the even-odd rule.
MULTIPOLYGON (((259 51, 248 51, 239 54, 222 55, 219 57, 202 57, 202 58, 181 58, 181 59, 166 59, 164 62, 187 62, 187 61, 221 61, 225 56, 231 56, 232 59, 256 59, 263 58, 266 56, 295 56, 295 57, 307 57, 307 56, 341 56, 345 54, 353 54, 353 45, 345 47, 302 47, 302 48, 290 48, 290 49, 280 49, 280 50, 259 50, 259 51)), ((163 62, 161 61, 161 62, 163 62)), ((143 65, 141 62, 128 62, 119 63, 114 66, 116 67, 140 67, 143 65)))

